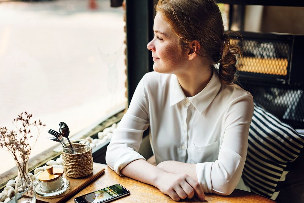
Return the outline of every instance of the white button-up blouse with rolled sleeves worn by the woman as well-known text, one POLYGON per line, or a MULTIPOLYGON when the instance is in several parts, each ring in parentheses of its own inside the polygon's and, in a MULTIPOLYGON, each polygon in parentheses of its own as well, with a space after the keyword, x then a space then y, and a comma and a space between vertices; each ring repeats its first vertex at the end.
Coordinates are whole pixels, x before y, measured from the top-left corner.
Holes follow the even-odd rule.
POLYGON ((149 72, 140 80, 126 114, 112 135, 106 162, 120 170, 136 159, 150 125, 156 163, 196 163, 204 192, 229 194, 246 159, 253 98, 240 86, 223 85, 213 68, 208 85, 186 97, 173 74, 149 72))

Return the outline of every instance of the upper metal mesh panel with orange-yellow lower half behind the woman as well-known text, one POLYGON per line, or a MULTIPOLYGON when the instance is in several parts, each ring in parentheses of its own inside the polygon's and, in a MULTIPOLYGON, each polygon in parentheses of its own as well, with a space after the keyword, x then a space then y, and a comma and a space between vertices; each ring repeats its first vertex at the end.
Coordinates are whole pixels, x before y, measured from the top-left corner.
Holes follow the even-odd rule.
POLYGON ((243 57, 239 71, 271 75, 287 75, 290 48, 284 42, 243 41, 243 57))

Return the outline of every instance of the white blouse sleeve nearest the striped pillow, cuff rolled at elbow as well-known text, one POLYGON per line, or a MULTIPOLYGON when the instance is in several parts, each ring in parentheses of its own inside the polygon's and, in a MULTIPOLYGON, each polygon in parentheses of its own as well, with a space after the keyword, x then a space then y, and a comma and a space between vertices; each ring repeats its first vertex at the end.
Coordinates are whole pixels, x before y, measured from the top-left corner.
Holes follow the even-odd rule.
POLYGON ((229 195, 237 186, 245 164, 252 115, 250 94, 230 103, 224 118, 225 130, 218 160, 196 164, 197 177, 205 192, 229 195))

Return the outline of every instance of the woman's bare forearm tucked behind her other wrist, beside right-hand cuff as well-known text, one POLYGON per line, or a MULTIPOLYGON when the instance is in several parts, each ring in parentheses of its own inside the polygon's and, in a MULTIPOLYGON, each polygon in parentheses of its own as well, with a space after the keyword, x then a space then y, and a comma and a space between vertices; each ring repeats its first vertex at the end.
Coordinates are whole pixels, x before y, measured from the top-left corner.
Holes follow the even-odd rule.
POLYGON ((157 165, 157 168, 164 170, 168 173, 186 173, 194 180, 197 180, 196 164, 195 163, 183 163, 178 161, 164 161, 157 165))

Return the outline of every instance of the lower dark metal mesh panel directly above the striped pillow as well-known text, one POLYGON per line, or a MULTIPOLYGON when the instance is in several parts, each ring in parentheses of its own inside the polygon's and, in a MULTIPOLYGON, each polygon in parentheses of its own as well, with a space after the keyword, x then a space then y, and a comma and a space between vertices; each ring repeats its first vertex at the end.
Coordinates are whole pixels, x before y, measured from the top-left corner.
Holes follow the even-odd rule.
POLYGON ((304 92, 257 85, 243 85, 254 100, 280 119, 304 121, 304 92))

